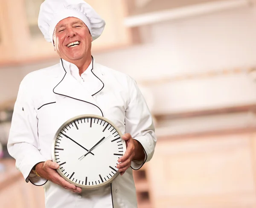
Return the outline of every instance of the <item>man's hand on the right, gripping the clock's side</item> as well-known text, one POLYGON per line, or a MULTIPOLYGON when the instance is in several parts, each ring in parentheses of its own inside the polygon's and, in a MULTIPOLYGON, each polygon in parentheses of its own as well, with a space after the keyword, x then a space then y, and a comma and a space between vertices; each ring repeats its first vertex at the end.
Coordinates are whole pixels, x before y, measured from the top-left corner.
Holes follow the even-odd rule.
POLYGON ((126 151, 125 154, 119 158, 118 162, 120 162, 116 167, 119 169, 121 176, 125 173, 125 171, 130 168, 131 161, 133 159, 144 159, 145 153, 142 145, 135 139, 131 138, 131 134, 126 133, 122 136, 122 139, 125 140, 126 143, 126 151))

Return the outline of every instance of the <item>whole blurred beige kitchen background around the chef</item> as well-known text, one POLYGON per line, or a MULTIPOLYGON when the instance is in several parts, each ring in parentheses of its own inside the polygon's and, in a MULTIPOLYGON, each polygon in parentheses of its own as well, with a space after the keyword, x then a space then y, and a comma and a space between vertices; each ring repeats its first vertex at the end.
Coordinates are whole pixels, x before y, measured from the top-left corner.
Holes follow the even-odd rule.
MULTIPOLYGON (((135 78, 154 116, 138 207, 256 208, 256 0, 86 1, 107 23, 95 60, 135 78)), ((1 208, 44 208, 6 150, 20 81, 59 62, 42 2, 0 0, 1 208)))

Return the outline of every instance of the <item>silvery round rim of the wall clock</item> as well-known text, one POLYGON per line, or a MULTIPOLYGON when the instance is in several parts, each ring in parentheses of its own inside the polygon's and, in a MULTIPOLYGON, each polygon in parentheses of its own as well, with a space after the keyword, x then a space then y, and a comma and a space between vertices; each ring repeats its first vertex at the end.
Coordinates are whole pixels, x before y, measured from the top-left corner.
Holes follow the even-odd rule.
MULTIPOLYGON (((55 133, 55 136, 53 137, 53 141, 52 141, 52 161, 53 162, 57 162, 55 160, 55 142, 56 142, 56 139, 59 135, 59 133, 61 132, 61 130, 70 122, 76 120, 76 119, 79 119, 79 118, 99 118, 99 119, 102 119, 103 121, 106 121, 107 123, 111 124, 116 132, 119 134, 120 138, 122 136, 122 132, 119 130, 118 127, 116 127, 116 125, 110 121, 109 119, 105 118, 105 117, 102 117, 102 116, 99 116, 99 115, 95 115, 95 114, 81 114, 79 116, 74 116, 73 118, 70 118, 69 120, 67 120, 66 122, 64 122, 64 124, 61 125, 61 127, 58 128, 58 130, 56 131, 55 133)), ((126 151, 126 143, 125 141, 121 138, 121 141, 122 141, 122 144, 123 144, 123 152, 125 153, 126 151)), ((95 189, 99 189, 105 185, 109 185, 111 182, 113 182, 114 179, 116 179, 116 177, 120 174, 119 170, 116 171, 116 173, 111 177, 111 179, 109 179, 107 182, 104 182, 102 184, 98 184, 98 185, 81 185, 81 184, 77 184, 76 182, 73 182, 72 180, 70 180, 69 178, 67 178, 66 176, 64 176, 64 174, 61 172, 60 170, 60 167, 57 169, 57 172, 58 174, 64 178, 67 182, 70 182, 71 184, 73 185, 76 185, 77 187, 80 187, 84 190, 95 190, 95 189)))

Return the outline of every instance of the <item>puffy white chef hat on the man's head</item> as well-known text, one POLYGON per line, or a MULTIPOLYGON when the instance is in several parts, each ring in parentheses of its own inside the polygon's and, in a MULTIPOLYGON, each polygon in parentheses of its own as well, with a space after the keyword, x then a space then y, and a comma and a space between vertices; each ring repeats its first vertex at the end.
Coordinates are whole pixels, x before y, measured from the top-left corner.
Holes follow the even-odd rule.
POLYGON ((82 20, 92 35, 99 38, 105 27, 105 21, 84 0, 45 0, 40 7, 38 26, 48 42, 52 42, 55 26, 67 17, 82 20))

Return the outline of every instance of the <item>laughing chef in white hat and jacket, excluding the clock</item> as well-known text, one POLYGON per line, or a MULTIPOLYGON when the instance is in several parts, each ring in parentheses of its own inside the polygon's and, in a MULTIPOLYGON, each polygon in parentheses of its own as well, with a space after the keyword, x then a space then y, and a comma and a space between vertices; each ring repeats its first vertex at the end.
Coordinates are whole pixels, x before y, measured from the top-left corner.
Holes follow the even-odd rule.
POLYGON ((156 136, 134 79, 97 64, 91 55, 91 42, 102 34, 105 21, 83 0, 45 0, 38 26, 60 62, 29 73, 20 83, 8 141, 17 169, 26 182, 44 186, 46 208, 136 208, 132 169, 152 158, 156 136), (59 176, 51 157, 58 128, 82 114, 112 121, 127 146, 117 165, 120 175, 93 191, 59 176))

